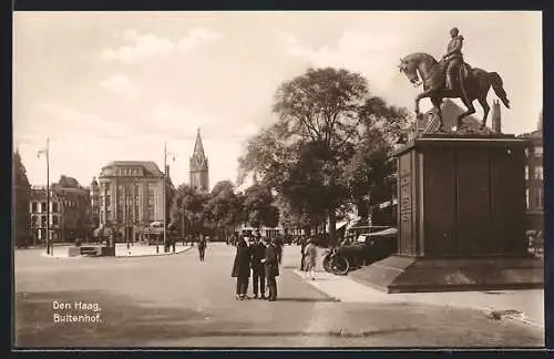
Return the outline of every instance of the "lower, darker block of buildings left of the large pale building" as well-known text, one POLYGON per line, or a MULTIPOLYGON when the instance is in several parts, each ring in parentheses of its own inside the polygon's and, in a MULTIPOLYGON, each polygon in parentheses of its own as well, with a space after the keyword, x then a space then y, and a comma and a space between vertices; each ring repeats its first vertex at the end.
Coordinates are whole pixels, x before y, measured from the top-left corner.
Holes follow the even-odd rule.
MULTIPOLYGON (((31 233, 34 244, 47 238, 47 188, 32 186, 29 211, 31 233)), ((89 189, 81 187, 74 178, 62 176, 58 184, 50 186, 50 239, 73 242, 86 237, 89 216, 89 189), (76 185, 66 186, 66 178, 76 185)))

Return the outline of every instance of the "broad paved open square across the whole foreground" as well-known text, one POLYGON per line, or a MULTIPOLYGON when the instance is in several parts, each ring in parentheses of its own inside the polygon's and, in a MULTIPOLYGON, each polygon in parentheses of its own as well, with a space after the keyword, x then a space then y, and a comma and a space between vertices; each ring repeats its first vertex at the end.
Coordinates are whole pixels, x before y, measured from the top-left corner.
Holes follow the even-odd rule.
POLYGON ((302 278, 297 246, 285 247, 275 302, 235 300, 235 247, 225 244, 212 244, 204 263, 195 247, 131 258, 41 253, 16 252, 18 347, 544 346, 538 315, 529 316, 535 318, 530 325, 495 320, 479 308, 510 302, 481 297, 535 300, 536 293, 384 295, 350 275, 302 278), (89 321, 62 321, 68 315, 89 321))

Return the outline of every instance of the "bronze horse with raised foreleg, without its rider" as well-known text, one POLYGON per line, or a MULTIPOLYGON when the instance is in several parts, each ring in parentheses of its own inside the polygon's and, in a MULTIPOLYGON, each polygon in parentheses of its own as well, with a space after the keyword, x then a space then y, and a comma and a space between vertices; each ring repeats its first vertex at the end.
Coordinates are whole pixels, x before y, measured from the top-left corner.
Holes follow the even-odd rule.
POLYGON ((403 72, 414 86, 423 83, 423 92, 416 96, 416 115, 418 119, 421 117, 419 110, 420 100, 429 98, 439 114, 439 131, 444 131, 441 112, 442 99, 461 99, 468 111, 458 116, 458 130, 462 126, 463 117, 475 113, 473 101, 478 100, 483 107, 484 114, 481 129, 484 129, 489 111, 491 110, 486 102, 486 94, 491 86, 502 103, 510 109, 510 100, 507 100, 506 92, 504 91, 502 78, 496 72, 486 72, 482 69, 471 68, 464 63, 460 66, 459 76, 455 76, 454 89, 445 90, 445 65, 447 63, 438 62, 430 54, 422 52, 412 53, 400 59, 400 72, 403 72), (420 76, 421 81, 419 80, 420 76))

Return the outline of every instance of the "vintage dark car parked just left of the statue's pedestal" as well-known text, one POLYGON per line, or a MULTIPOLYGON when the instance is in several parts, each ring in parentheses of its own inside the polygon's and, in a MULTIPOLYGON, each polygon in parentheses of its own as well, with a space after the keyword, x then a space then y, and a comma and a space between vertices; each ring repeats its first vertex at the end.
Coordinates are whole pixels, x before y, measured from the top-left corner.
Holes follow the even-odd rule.
POLYGON ((397 252, 397 228, 361 234, 356 243, 330 250, 324 267, 336 275, 346 275, 352 268, 387 258, 397 252))

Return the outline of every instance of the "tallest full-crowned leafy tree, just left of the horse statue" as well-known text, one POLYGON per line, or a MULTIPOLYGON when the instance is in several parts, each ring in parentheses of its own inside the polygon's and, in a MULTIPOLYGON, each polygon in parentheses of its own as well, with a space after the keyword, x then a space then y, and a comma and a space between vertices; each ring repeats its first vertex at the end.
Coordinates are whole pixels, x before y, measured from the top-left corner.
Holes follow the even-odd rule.
POLYGON ((240 180, 257 174, 295 212, 327 216, 335 244, 337 214, 387 177, 380 168, 387 156, 378 154, 401 133, 406 113, 370 96, 360 74, 332 68, 283 83, 273 110, 277 122, 252 139, 239 160, 240 180), (362 171, 368 163, 375 163, 371 176, 362 171), (357 188, 360 183, 368 188, 357 188))

